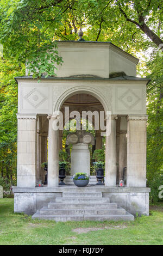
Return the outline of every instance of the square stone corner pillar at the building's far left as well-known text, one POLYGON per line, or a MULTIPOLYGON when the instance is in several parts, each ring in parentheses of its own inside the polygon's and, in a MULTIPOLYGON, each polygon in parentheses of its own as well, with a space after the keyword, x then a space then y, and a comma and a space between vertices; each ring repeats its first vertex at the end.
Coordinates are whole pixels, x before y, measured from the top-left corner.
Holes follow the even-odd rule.
POLYGON ((17 186, 36 186, 37 115, 17 114, 17 186))

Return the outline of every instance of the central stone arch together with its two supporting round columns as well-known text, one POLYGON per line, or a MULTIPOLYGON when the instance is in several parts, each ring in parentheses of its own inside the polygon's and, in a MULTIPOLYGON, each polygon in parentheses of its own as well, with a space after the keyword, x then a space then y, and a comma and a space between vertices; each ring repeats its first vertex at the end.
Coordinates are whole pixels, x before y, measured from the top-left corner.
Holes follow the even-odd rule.
MULTIPOLYGON (((48 186, 53 187, 58 185, 58 149, 59 149, 59 131, 53 129, 53 123, 58 122, 59 115, 64 115, 64 108, 68 107, 70 111, 81 112, 90 111, 93 114, 93 111, 96 111, 98 114, 103 112, 106 117, 106 131, 109 127, 108 122, 108 112, 111 113, 111 107, 108 101, 105 98, 105 95, 99 93, 97 89, 93 87, 86 86, 76 86, 67 91, 58 97, 54 104, 53 115, 49 116, 49 144, 48 144, 48 186), (62 114, 60 114, 62 113, 62 114), (54 172, 55 170, 55 172, 54 172)), ((67 118, 67 117, 66 117, 67 118)), ((67 119, 64 118, 64 124, 67 119)), ((69 118, 69 115, 68 115, 69 118)), ((116 185, 116 116, 112 116, 111 121, 111 134, 106 136, 106 149, 105 149, 105 185, 106 186, 115 186, 116 185)), ((99 118, 100 120, 100 118, 99 118)), ((98 120, 98 122, 99 122, 98 120)), ((92 121, 95 125, 97 120, 92 121)), ((98 126, 101 127, 101 124, 98 126)), ((101 137, 98 130, 98 139, 99 142, 101 137)), ((60 134, 61 137, 61 134, 60 134)), ((100 142, 99 142, 100 144, 100 142)))

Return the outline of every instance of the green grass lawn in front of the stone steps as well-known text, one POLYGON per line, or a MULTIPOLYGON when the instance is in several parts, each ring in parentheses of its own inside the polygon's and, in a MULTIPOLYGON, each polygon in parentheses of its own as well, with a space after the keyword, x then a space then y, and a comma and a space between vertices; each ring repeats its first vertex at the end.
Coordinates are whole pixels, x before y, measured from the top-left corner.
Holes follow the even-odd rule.
POLYGON ((163 203, 135 222, 32 220, 14 214, 14 199, 0 199, 0 245, 163 245, 163 203))

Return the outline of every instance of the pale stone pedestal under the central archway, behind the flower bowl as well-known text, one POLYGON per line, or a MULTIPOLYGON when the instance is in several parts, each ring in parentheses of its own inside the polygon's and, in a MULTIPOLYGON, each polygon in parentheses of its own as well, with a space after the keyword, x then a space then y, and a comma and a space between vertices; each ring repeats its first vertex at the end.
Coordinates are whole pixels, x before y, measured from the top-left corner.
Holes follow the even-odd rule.
POLYGON ((90 150, 84 143, 73 145, 71 150, 71 175, 79 172, 90 175, 90 150))

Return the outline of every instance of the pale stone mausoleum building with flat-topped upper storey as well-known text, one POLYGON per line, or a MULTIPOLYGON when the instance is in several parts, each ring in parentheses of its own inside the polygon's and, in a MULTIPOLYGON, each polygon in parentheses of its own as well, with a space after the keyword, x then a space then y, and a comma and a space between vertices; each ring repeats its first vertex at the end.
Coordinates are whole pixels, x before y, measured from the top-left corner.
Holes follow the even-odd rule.
MULTIPOLYGON (((90 193, 88 197, 92 198, 92 204, 94 202, 93 214, 87 215, 83 211, 75 218, 61 219, 62 212, 57 215, 55 210, 54 218, 51 212, 49 219, 118 219, 109 217, 110 214, 105 214, 105 210, 99 214, 95 206, 98 197, 102 197, 105 203, 117 204, 118 209, 123 208, 128 212, 128 216, 135 215, 136 212, 148 215, 148 79, 136 77, 136 65, 139 60, 110 42, 58 41, 58 52, 64 63, 58 66, 57 77, 42 76, 40 82, 28 75, 15 78, 18 83, 18 137, 17 186, 13 188, 14 211, 36 214, 36 217, 39 217, 43 206, 51 209, 47 205, 61 202, 64 197, 72 199, 73 192, 76 192, 79 196, 81 193, 90 193), (115 73, 117 76, 112 77, 111 74, 115 73), (111 133, 105 141, 105 186, 96 186, 95 176, 90 181, 91 185, 85 188, 75 187, 70 176, 65 179, 66 186, 59 186, 58 152, 62 148, 62 131, 53 130, 52 124, 58 118, 54 113, 64 113, 65 106, 68 106, 70 111, 110 111, 111 133), (45 178, 41 168, 41 163, 45 161, 48 161, 48 184, 36 187, 37 182, 45 178), (118 187, 124 167, 127 167, 126 186, 118 187)), ((96 131, 96 149, 102 147, 102 136, 104 131, 96 131)), ((83 194, 83 197, 85 195, 83 194)), ((79 201, 78 198, 78 204, 79 201)), ((81 208, 84 206, 80 205, 81 208)), ((74 213, 70 212, 70 209, 73 209, 72 205, 66 216, 73 216, 74 213)))

